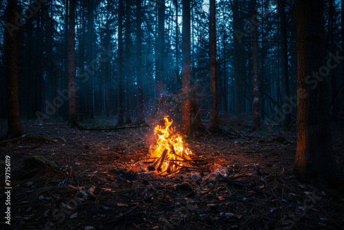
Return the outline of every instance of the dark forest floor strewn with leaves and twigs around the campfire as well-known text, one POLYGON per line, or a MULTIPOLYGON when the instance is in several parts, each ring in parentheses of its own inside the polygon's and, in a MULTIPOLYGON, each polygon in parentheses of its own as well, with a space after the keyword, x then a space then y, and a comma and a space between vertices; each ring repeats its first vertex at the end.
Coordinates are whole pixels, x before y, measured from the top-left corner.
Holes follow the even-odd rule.
MULTIPOLYGON (((21 138, 0 143, 0 229, 344 228, 344 195, 294 178, 293 128, 189 138, 209 171, 170 177, 145 170, 153 127, 104 132, 24 121, 23 129, 21 138)), ((343 123, 333 124, 341 167, 343 130, 343 123)))

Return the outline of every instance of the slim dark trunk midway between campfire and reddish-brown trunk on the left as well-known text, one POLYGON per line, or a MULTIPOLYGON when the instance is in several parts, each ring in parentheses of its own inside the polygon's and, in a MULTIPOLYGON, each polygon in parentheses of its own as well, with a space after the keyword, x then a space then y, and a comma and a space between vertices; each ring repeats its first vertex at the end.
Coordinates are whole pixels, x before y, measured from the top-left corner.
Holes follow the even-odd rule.
POLYGON ((124 125, 123 105, 123 1, 118 3, 118 116, 117 125, 124 125))

